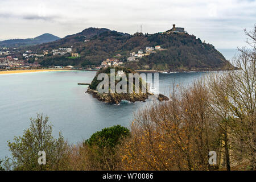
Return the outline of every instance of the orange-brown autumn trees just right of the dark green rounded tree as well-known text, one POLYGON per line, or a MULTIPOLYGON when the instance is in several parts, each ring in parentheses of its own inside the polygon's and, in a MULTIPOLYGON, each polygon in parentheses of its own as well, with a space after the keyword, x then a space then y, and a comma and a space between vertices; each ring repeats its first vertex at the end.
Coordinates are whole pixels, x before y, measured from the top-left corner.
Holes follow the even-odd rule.
POLYGON ((203 82, 173 87, 170 101, 138 111, 131 137, 119 148, 125 170, 207 170, 216 134, 203 82))

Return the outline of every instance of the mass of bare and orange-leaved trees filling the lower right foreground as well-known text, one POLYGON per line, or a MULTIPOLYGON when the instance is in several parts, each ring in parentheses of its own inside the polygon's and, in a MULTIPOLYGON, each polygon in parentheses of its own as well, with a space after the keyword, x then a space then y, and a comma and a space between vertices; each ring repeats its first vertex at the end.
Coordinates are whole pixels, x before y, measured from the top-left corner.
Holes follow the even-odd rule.
POLYGON ((170 101, 135 115, 131 137, 119 150, 121 169, 208 170, 213 150, 216 167, 249 163, 255 170, 256 32, 245 32, 252 49, 239 49, 239 70, 211 73, 187 89, 174 85, 170 101))

